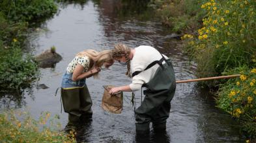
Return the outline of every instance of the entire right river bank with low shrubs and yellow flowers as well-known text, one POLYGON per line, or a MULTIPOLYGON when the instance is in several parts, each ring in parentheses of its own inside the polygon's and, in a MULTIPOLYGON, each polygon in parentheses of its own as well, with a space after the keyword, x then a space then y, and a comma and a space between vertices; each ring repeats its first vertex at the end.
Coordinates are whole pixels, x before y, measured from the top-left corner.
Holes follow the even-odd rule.
POLYGON ((184 34, 184 50, 197 63, 198 78, 241 74, 201 84, 218 87, 217 106, 242 123, 246 137, 255 138, 255 1, 151 2, 165 25, 184 34))

